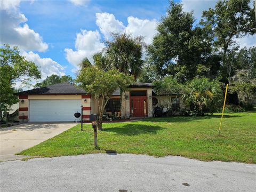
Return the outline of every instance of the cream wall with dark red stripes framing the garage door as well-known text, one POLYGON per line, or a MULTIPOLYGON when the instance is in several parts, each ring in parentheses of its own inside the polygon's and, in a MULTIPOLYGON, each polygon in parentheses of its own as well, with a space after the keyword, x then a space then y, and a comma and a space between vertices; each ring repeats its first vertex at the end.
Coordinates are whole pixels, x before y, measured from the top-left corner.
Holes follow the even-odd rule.
POLYGON ((19 95, 19 121, 27 122, 29 119, 29 100, 37 99, 81 99, 83 106, 83 121, 88 121, 91 114, 91 95, 19 95), (86 102, 85 102, 86 99, 86 102), (21 102, 23 100, 23 103, 21 102))

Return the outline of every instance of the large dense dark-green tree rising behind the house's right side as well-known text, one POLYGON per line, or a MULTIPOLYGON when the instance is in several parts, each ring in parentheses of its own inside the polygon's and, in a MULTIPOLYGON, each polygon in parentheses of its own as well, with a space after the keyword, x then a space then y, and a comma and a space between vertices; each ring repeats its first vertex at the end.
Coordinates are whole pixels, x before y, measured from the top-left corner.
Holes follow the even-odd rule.
POLYGON ((212 53, 210 28, 193 27, 193 13, 182 11, 182 4, 170 2, 167 14, 157 27, 158 34, 148 46, 148 60, 161 76, 171 74, 180 82, 192 79, 197 67, 204 66, 214 76, 220 67, 219 57, 212 53))

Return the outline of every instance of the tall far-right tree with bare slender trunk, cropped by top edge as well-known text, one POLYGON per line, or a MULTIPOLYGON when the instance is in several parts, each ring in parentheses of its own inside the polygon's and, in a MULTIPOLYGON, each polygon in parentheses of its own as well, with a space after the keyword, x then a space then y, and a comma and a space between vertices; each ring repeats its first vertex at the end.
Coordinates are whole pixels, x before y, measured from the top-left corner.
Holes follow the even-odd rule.
POLYGON ((204 28, 212 29, 209 36, 212 36, 215 49, 220 50, 222 77, 226 81, 231 61, 227 53, 237 49, 235 38, 256 33, 255 5, 251 8, 250 0, 218 1, 214 9, 203 11, 200 23, 204 28))

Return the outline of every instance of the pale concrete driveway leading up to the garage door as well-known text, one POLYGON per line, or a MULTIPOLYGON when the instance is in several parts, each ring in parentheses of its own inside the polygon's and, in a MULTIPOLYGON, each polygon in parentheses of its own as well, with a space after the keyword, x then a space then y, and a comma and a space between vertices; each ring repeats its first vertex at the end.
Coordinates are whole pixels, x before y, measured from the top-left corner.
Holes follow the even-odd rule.
POLYGON ((68 130, 75 123, 24 123, 0 130, 0 161, 21 159, 14 155, 68 130))

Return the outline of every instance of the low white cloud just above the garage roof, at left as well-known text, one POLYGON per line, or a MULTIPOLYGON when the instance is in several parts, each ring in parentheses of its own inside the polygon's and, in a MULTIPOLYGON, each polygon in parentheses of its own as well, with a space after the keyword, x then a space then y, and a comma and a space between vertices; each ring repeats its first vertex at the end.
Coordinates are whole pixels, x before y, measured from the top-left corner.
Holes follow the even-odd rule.
POLYGON ((41 58, 39 54, 30 52, 21 52, 21 54, 26 57, 27 60, 33 61, 42 73, 42 80, 47 76, 51 75, 65 75, 65 68, 61 66, 58 62, 53 61, 51 58, 41 58))

